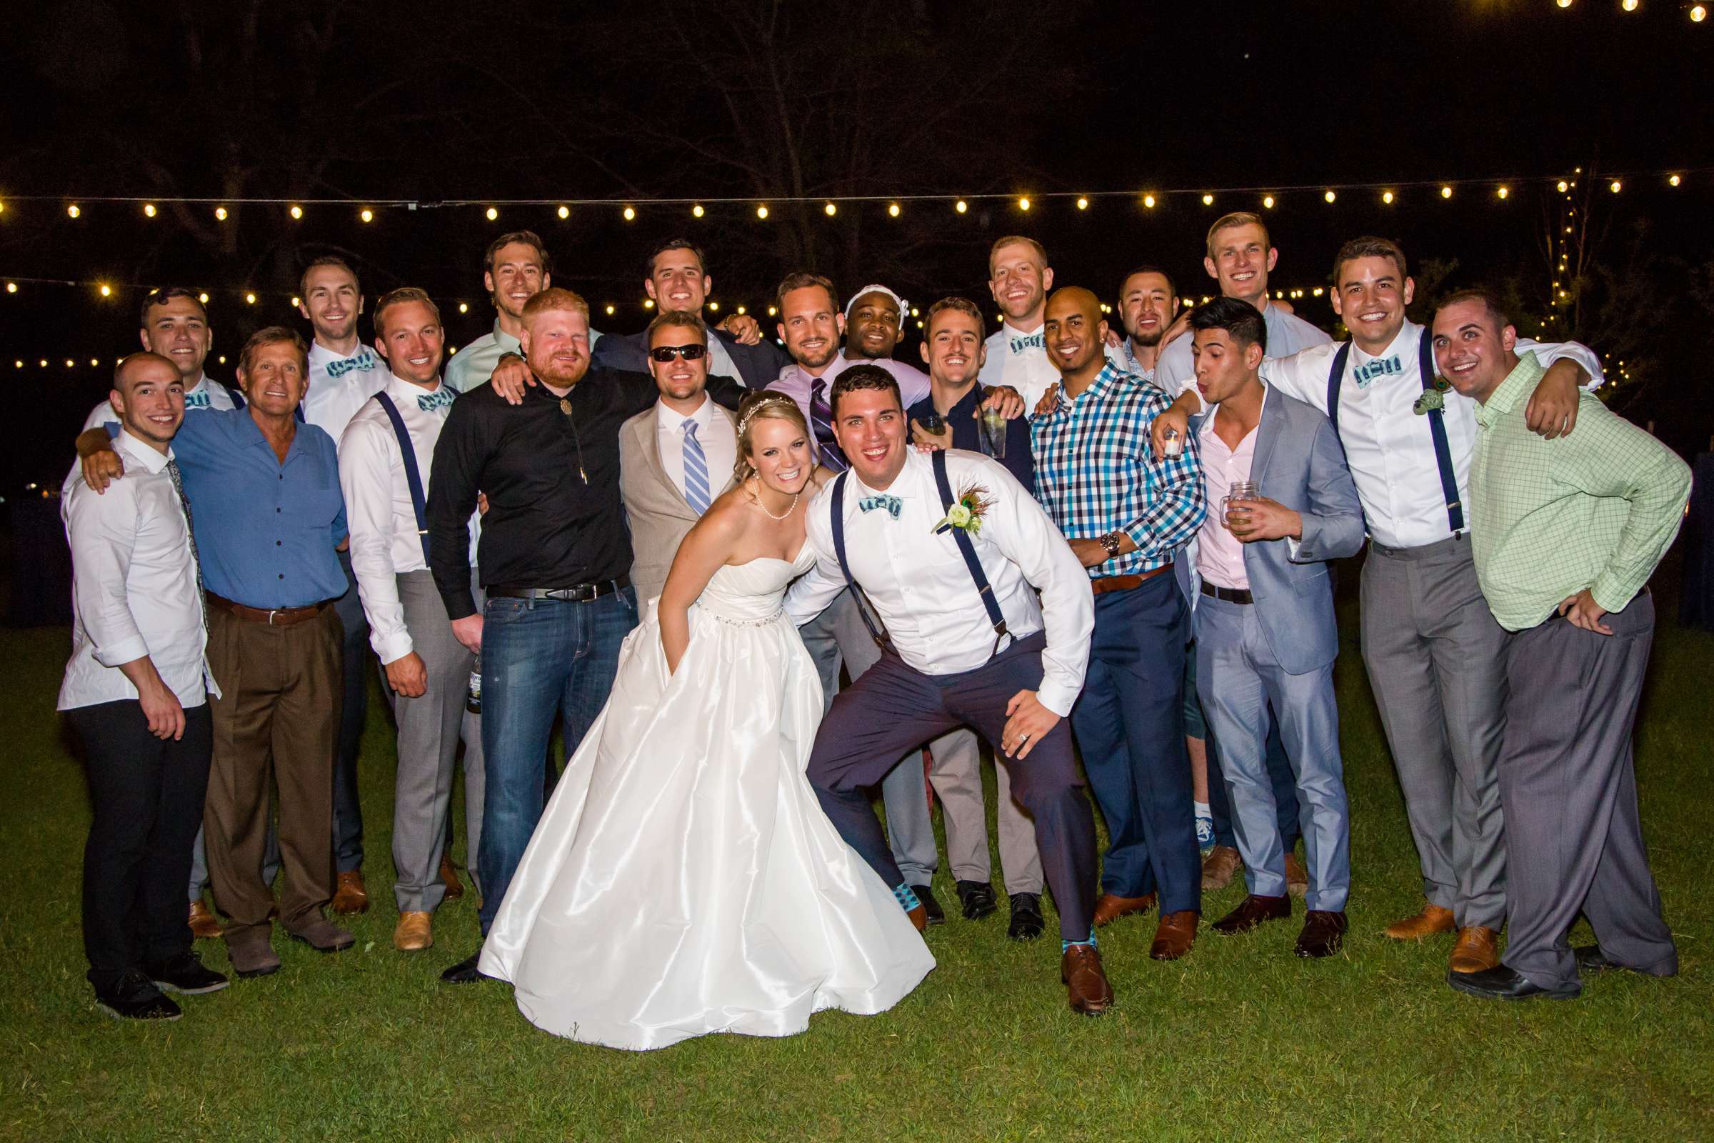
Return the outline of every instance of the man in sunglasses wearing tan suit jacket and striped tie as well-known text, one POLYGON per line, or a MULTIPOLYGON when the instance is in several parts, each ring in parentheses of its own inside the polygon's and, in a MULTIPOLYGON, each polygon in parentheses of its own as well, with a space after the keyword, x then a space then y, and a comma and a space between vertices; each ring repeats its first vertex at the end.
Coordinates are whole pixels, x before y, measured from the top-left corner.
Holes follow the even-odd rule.
POLYGON ((703 319, 665 310, 650 322, 646 338, 660 399, 619 430, 619 494, 631 526, 631 583, 639 605, 660 595, 679 542, 732 487, 737 463, 732 413, 703 392, 703 319))

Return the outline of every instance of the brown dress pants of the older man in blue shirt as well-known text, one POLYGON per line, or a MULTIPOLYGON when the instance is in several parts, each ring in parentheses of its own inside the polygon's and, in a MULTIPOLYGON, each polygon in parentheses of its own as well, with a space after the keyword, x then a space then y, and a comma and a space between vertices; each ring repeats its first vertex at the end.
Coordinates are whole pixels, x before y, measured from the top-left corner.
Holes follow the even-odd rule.
POLYGON ((290 627, 209 608, 209 668, 221 697, 202 814, 214 901, 231 917, 226 941, 266 937, 273 889, 262 884, 267 788, 279 790, 279 920, 288 931, 321 919, 333 896, 333 740, 339 727, 338 613, 290 627))

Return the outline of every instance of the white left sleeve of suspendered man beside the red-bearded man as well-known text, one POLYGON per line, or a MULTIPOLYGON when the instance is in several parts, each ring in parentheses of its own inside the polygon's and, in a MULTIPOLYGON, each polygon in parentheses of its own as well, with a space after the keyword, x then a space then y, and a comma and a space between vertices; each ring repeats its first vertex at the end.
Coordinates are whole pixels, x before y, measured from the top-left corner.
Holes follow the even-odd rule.
POLYGON ((393 567, 393 470, 401 464, 391 428, 357 416, 339 440, 339 490, 351 530, 351 572, 369 619, 369 644, 382 663, 411 653, 405 605, 393 567))

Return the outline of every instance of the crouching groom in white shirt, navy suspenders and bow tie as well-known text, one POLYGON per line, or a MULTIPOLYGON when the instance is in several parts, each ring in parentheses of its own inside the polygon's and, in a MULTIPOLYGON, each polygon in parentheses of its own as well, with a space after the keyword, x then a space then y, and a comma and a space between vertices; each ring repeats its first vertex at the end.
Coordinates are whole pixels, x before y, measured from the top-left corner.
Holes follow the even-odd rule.
POLYGON ((1071 1008, 1102 1013, 1112 989, 1090 929, 1095 821, 1064 721, 1088 663, 1088 577, 1003 464, 910 447, 898 384, 886 370, 848 368, 830 404, 850 470, 809 506, 806 542, 816 567, 792 586, 785 608, 804 624, 855 584, 883 655, 833 699, 809 781, 845 841, 920 927, 922 907, 866 788, 898 766, 900 754, 955 727, 994 742, 1011 769, 1013 797, 1035 819, 1059 907, 1071 1008), (980 502, 974 531, 946 526, 955 495, 980 502))

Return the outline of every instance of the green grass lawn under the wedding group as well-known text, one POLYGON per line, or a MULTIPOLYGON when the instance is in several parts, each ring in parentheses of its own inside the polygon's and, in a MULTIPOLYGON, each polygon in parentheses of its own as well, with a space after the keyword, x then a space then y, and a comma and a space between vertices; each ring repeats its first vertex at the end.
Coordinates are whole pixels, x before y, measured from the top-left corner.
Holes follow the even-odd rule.
MULTIPOLYGON (((379 699, 363 742, 375 908, 355 919, 357 948, 321 956, 276 934, 283 972, 185 997, 178 1023, 108 1020, 77 927, 84 781, 53 713, 67 648, 62 629, 0 632, 0 1138, 1714 1138, 1714 636, 1661 631, 1640 720, 1675 980, 1609 973, 1579 1001, 1501 1006, 1445 985, 1445 939, 1380 936, 1417 908, 1421 881, 1347 646, 1344 956, 1296 960, 1294 922, 1243 937, 1203 929, 1186 960, 1159 965, 1147 956, 1154 919, 1121 920, 1100 937, 1118 1008, 1088 1020, 1066 1008, 1058 949, 1006 941, 1001 910, 931 931, 939 968, 890 1013, 823 1013, 787 1040, 704 1037, 650 1054, 538 1032, 500 984, 440 985, 440 968, 476 946, 471 895, 440 910, 432 951, 393 949, 393 735, 379 699)), ((639 905, 648 893, 638 888, 639 905)), ((936 893, 955 901, 948 874, 936 893)), ((1241 893, 1208 895, 1205 915, 1241 893)), ((226 968, 219 943, 201 951, 226 968)))

